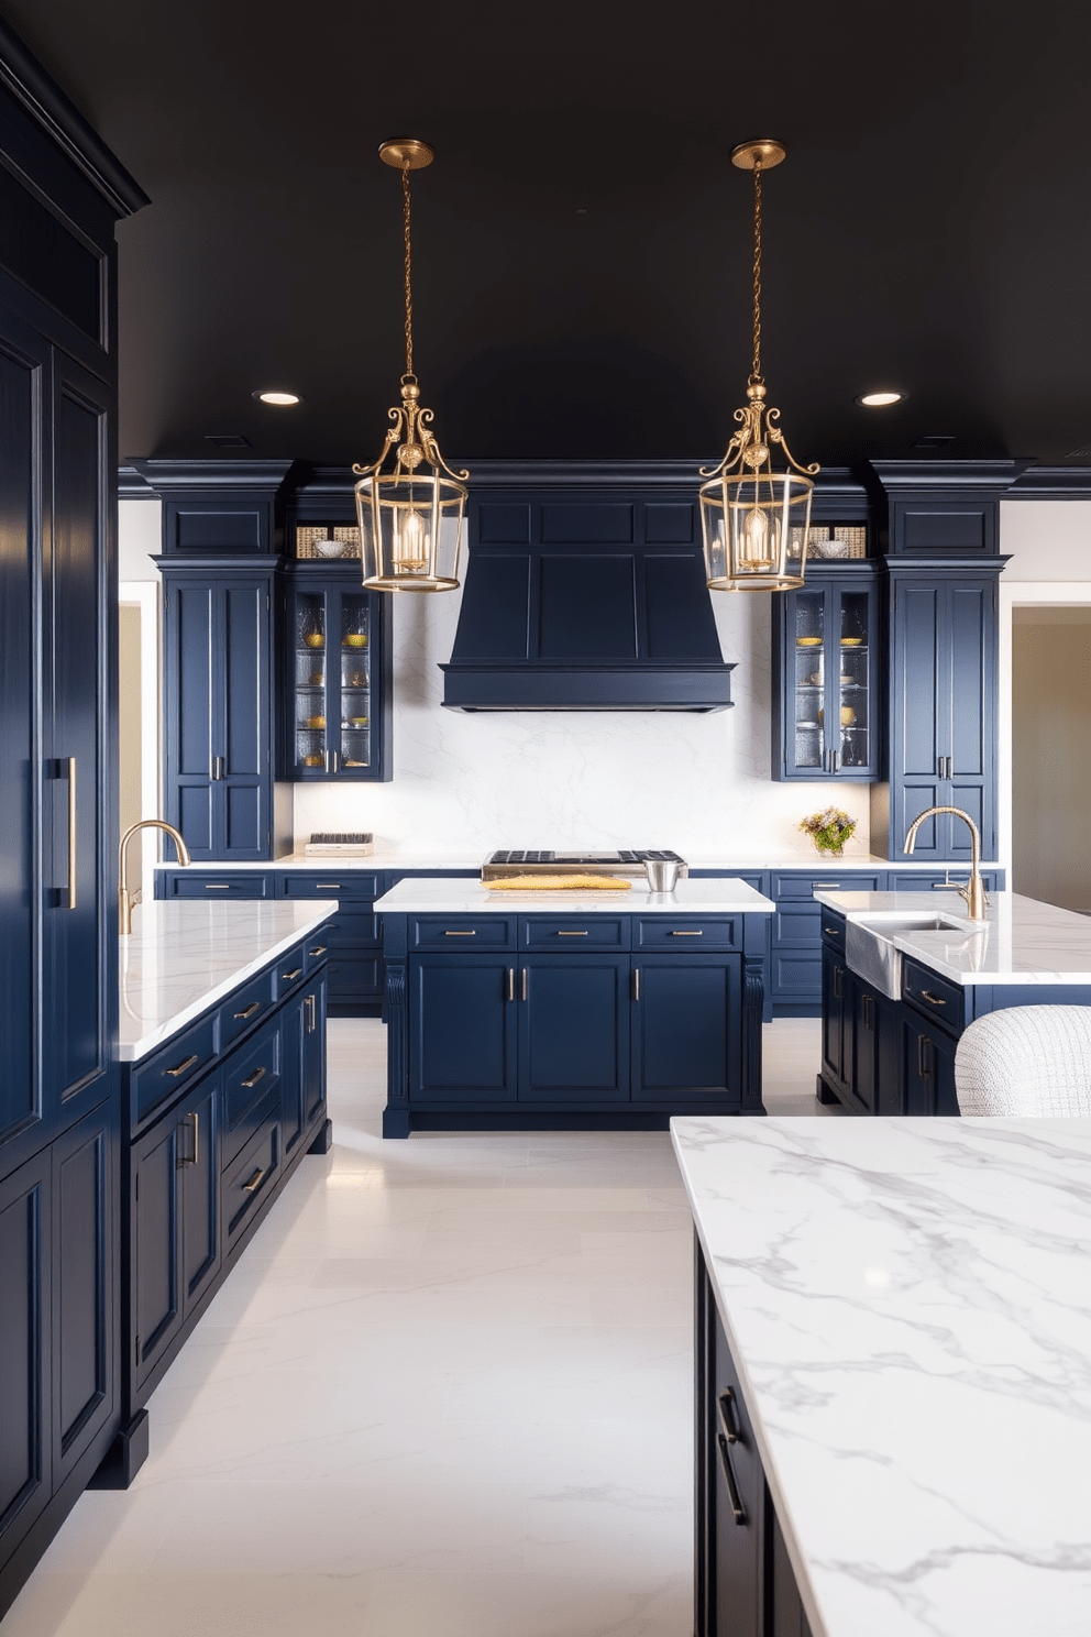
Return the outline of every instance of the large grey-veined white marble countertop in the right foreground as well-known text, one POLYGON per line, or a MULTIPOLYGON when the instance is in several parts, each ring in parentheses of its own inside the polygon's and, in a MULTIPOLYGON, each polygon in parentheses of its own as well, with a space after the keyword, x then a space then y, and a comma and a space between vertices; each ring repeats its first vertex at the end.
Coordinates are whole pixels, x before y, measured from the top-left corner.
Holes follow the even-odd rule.
POLYGON ((672 1120, 815 1637, 1091 1629, 1091 1120, 672 1120))

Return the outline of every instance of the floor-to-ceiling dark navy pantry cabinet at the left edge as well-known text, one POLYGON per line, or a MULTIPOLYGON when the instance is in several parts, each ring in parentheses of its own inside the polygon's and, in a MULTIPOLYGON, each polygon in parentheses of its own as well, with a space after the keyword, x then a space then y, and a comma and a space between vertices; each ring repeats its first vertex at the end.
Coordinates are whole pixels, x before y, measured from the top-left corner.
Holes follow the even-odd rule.
POLYGON ((0 23, 0 1616, 118 1431, 114 224, 0 23))

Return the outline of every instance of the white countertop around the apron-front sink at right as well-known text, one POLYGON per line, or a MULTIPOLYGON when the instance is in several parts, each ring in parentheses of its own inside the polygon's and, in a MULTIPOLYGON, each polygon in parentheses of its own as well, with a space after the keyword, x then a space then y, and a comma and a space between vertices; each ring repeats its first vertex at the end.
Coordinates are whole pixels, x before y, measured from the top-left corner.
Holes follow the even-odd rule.
MULTIPOLYGON (((846 920, 867 910, 919 913, 919 892, 829 892, 815 897, 846 920)), ((967 920, 957 892, 929 895, 927 909, 959 918, 955 931, 905 931, 895 948, 952 984, 1091 984, 1091 915, 1039 904, 1017 892, 990 894, 988 920, 967 920)))

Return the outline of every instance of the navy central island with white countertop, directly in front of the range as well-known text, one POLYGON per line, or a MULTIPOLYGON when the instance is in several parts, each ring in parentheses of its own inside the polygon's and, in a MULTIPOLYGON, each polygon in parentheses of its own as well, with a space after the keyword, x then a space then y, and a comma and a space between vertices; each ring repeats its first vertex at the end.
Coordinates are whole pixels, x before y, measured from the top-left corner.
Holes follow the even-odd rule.
POLYGON ((401 881, 383 917, 388 1105, 415 1130, 661 1130, 762 1115, 765 922, 743 881, 672 894, 401 881))

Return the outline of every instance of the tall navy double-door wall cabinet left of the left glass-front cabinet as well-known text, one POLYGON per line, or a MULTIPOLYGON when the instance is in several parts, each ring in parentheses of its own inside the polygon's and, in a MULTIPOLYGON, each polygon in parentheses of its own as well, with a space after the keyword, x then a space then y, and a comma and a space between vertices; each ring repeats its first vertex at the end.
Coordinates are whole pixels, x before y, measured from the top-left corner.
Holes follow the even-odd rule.
POLYGON ((273 855, 273 591, 164 560, 167 817, 195 859, 273 855))

